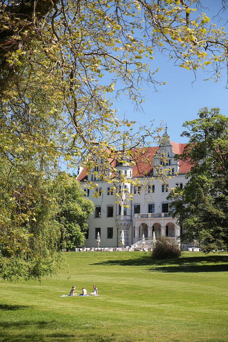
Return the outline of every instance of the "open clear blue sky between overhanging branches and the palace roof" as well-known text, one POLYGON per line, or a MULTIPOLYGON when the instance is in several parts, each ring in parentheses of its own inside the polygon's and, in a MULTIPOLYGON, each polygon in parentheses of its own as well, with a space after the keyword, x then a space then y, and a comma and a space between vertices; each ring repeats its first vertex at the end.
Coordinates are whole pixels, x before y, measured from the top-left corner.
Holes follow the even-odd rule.
MULTIPOLYGON (((208 0, 206 3, 208 10, 205 12, 208 17, 212 18, 213 14, 221 8, 221 2, 208 0)), ((223 22, 217 24, 219 27, 223 25, 223 22)), ((159 92, 154 92, 153 87, 145 89, 143 95, 147 100, 143 104, 144 113, 136 112, 134 105, 126 99, 114 103, 114 107, 119 108, 119 117, 125 115, 129 120, 139 120, 141 124, 148 124, 148 126, 149 121, 153 118, 155 118, 155 126, 164 120, 165 123, 167 122, 167 133, 170 135, 170 140, 184 143, 187 142, 186 138, 180 137, 183 130, 182 124, 186 120, 197 118, 200 108, 219 107, 221 114, 227 115, 228 89, 224 89, 225 77, 220 82, 203 81, 208 75, 199 70, 197 79, 192 84, 194 74, 191 70, 174 66, 173 61, 168 61, 167 58, 158 54, 151 62, 151 70, 155 70, 157 67, 159 67, 159 72, 155 78, 167 81, 167 84, 157 86, 159 92)))

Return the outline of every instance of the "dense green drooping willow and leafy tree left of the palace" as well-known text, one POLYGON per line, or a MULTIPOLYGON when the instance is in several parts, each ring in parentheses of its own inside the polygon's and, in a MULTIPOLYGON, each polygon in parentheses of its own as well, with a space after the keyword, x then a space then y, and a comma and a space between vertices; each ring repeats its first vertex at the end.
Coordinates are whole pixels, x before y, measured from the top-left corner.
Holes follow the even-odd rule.
MULTIPOLYGON (((2 171, 3 166, 0 168, 2 171)), ((65 266, 62 249, 84 244, 93 203, 74 179, 28 179, 27 174, 12 172, 9 183, 15 192, 11 194, 10 187, 0 192, 0 220, 5 222, 1 226, 0 277, 40 280, 58 273, 65 266)))

